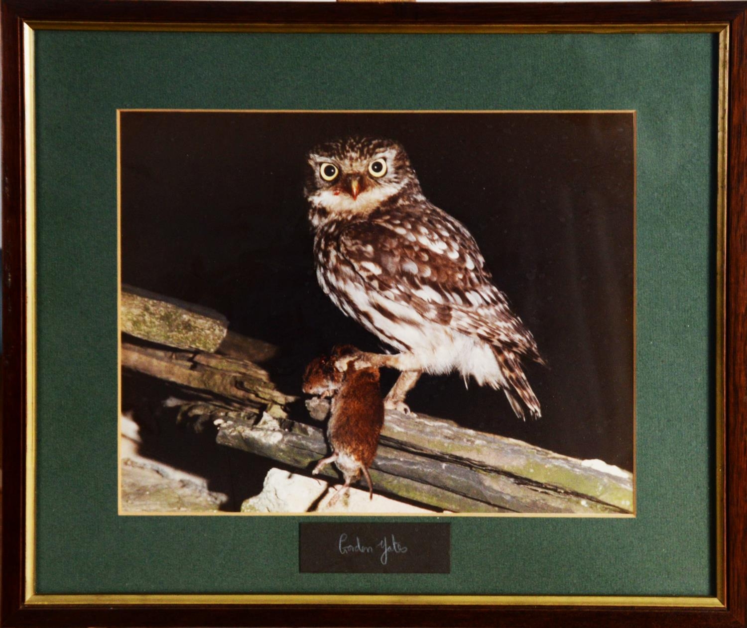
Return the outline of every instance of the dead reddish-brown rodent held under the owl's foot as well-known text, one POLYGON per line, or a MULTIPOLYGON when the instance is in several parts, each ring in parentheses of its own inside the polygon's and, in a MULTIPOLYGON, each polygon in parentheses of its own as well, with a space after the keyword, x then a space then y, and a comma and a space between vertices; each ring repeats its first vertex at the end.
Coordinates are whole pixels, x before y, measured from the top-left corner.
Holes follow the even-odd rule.
POLYGON ((358 355, 354 346, 335 346, 330 355, 322 355, 311 361, 303 376, 303 392, 322 397, 332 397, 332 407, 327 423, 327 438, 332 447, 332 456, 323 458, 311 472, 314 475, 332 462, 341 470, 345 483, 338 489, 329 504, 347 492, 352 482, 361 473, 368 482, 369 497, 373 498, 373 484, 368 474, 379 434, 384 424, 384 400, 379 385, 379 369, 364 367, 356 369, 347 363, 344 370, 341 358, 358 355))

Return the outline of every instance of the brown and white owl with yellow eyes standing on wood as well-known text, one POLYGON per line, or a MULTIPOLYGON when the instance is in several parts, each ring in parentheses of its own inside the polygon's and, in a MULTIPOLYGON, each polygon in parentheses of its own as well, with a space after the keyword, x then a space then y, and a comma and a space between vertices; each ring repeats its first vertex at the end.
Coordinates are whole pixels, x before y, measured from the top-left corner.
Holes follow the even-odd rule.
POLYGON ((347 137, 307 155, 314 263, 332 302, 391 354, 356 359, 400 370, 385 407, 409 413, 422 373, 454 371, 506 394, 524 419, 540 405, 522 367, 536 342, 495 287, 474 238, 421 190, 399 143, 347 137))

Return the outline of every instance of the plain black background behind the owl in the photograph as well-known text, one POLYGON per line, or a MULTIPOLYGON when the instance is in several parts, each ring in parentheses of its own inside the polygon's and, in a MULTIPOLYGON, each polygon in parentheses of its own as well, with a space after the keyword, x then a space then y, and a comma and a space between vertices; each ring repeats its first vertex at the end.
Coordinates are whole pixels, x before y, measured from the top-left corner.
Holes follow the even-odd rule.
POLYGON ((214 308, 276 344, 267 367, 291 394, 335 343, 385 348, 317 285, 306 152, 347 134, 400 141, 548 361, 527 364, 539 420, 456 374, 424 376, 412 410, 633 469, 633 114, 121 116, 123 282, 214 308))

